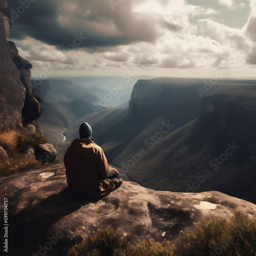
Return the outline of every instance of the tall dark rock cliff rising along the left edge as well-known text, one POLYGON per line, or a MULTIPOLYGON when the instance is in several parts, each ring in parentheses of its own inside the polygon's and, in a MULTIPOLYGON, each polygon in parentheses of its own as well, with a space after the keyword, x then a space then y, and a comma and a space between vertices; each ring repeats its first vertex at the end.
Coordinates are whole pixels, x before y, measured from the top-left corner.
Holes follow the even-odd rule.
POLYGON ((6 0, 0 0, 0 124, 20 128, 36 120, 42 111, 42 100, 31 85, 32 65, 18 55, 8 41, 11 15, 6 0))

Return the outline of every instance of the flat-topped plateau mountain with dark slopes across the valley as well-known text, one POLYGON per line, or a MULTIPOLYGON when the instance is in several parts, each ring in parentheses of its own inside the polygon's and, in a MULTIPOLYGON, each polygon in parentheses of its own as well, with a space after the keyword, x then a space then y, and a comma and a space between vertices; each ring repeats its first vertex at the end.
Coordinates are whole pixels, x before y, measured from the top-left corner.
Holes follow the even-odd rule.
MULTIPOLYGON (((129 114, 102 111, 83 120, 92 123, 109 162, 132 181, 171 191, 219 190, 256 202, 256 82, 216 81, 139 80, 129 114)), ((78 125, 67 128, 69 140, 78 125)))

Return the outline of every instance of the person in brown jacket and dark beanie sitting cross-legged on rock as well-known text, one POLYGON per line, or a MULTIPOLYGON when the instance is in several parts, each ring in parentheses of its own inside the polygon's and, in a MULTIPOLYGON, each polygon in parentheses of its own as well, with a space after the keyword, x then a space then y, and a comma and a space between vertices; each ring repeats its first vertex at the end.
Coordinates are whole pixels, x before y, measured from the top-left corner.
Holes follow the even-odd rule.
POLYGON ((67 182, 72 192, 81 197, 98 197, 122 184, 122 174, 109 166, 100 146, 93 142, 91 126, 83 122, 80 139, 75 139, 65 156, 67 182))

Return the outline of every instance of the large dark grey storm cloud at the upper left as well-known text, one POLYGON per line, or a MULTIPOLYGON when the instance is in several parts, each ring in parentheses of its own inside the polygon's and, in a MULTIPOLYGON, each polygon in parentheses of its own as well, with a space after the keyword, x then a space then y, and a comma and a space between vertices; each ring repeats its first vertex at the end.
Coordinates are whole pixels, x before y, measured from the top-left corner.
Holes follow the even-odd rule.
POLYGON ((72 50, 72 45, 97 50, 136 41, 154 42, 158 37, 154 18, 134 13, 129 1, 119 4, 115 10, 109 1, 101 0, 7 2, 14 20, 12 39, 30 36, 61 50, 72 50))

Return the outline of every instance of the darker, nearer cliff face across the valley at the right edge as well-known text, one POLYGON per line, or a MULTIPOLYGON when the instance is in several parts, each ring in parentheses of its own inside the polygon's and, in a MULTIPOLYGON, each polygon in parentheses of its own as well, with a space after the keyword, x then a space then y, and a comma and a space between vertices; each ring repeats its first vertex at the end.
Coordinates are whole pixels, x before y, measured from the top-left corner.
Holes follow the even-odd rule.
POLYGON ((200 129, 211 127, 221 139, 236 140, 246 147, 256 148, 256 87, 215 89, 201 101, 198 119, 200 129))

